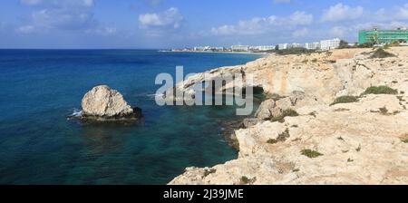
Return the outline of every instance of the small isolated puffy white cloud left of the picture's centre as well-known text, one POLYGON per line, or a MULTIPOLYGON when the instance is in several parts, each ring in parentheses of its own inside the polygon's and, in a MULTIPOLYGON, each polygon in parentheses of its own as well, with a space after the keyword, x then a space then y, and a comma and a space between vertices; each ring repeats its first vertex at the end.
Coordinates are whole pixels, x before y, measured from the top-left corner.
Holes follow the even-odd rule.
POLYGON ((171 7, 162 13, 140 14, 139 23, 142 28, 172 27, 178 29, 183 21, 179 9, 171 7))

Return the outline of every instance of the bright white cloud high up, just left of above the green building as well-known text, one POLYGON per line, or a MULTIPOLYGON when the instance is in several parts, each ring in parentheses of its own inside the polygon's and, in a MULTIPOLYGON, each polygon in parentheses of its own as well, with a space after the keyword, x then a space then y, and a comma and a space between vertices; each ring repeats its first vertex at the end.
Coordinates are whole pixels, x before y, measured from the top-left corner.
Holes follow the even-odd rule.
POLYGON ((339 22, 345 20, 355 20, 364 14, 362 6, 350 7, 341 3, 330 6, 322 15, 322 22, 339 22))

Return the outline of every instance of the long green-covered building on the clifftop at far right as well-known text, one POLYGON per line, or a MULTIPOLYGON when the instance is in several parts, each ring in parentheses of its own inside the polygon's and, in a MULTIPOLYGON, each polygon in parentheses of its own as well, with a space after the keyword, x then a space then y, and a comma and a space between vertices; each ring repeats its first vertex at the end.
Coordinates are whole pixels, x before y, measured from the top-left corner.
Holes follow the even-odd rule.
POLYGON ((408 41, 407 29, 395 29, 395 30, 363 30, 358 34, 358 43, 393 43, 393 42, 408 41))

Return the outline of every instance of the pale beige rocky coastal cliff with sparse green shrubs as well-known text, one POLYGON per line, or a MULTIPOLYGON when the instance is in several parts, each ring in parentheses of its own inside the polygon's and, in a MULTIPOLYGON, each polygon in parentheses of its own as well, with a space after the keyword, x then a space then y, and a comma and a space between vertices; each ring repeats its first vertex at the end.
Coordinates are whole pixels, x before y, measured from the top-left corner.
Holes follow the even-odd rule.
POLYGON ((170 184, 408 183, 408 47, 387 52, 271 55, 189 77, 176 88, 192 92, 204 74, 253 73, 252 86, 279 98, 233 133, 237 160, 187 168, 170 184))

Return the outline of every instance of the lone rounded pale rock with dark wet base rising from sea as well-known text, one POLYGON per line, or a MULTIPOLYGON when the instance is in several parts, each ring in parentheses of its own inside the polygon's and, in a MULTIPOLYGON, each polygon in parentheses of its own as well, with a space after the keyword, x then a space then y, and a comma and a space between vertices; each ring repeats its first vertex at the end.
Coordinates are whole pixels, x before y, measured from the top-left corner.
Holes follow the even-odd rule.
POLYGON ((107 85, 92 88, 83 96, 83 121, 131 121, 142 119, 140 108, 131 108, 120 92, 107 85))

